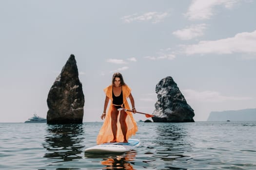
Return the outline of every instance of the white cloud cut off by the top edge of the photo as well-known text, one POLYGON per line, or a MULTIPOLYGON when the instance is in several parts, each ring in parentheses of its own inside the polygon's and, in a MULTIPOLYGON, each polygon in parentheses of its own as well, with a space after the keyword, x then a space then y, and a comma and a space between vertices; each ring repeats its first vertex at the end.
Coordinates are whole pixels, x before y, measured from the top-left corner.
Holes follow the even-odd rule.
POLYGON ((215 7, 224 6, 232 9, 241 0, 193 0, 185 17, 189 20, 209 19, 216 14, 215 7))

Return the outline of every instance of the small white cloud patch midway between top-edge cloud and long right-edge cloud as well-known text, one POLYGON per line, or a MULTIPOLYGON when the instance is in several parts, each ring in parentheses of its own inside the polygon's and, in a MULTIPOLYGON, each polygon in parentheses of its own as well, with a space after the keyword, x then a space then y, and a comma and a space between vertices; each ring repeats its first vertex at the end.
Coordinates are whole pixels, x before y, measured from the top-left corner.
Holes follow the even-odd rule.
POLYGON ((177 36, 179 39, 189 40, 189 39, 193 39, 195 37, 204 35, 205 29, 206 29, 206 24, 197 24, 197 25, 191 25, 182 30, 177 30, 173 32, 173 34, 177 36))

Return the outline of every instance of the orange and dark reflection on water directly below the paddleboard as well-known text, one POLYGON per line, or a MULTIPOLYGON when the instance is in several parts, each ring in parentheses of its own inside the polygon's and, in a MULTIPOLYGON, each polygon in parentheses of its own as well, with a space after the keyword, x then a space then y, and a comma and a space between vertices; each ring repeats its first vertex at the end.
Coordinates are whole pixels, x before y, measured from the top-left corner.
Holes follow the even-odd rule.
MULTIPOLYGON (((117 153, 118 154, 118 153, 117 153)), ((134 160, 136 157, 136 151, 130 151, 126 153, 121 153, 120 155, 113 154, 93 154, 93 153, 85 153, 86 158, 98 158, 101 159, 101 165, 105 167, 103 170, 134 170, 132 164, 134 164, 134 160)))

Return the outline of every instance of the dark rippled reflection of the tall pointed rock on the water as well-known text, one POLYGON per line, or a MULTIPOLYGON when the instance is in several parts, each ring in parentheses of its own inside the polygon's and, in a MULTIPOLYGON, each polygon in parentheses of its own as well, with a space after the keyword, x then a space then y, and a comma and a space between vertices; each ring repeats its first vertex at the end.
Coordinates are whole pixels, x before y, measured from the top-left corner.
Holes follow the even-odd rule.
POLYGON ((76 161, 83 152, 84 139, 82 124, 49 124, 43 147, 48 151, 44 157, 54 162, 76 161))

